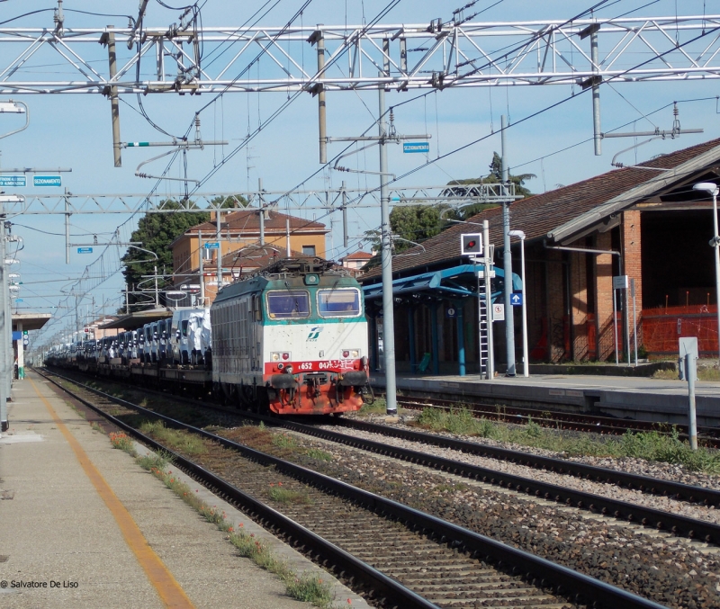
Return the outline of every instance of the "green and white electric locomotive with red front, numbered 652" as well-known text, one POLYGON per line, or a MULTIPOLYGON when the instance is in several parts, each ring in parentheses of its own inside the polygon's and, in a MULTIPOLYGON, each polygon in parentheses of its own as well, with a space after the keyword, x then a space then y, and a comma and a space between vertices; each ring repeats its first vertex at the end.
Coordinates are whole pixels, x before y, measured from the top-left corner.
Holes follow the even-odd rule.
POLYGON ((367 390, 362 290, 319 258, 285 258, 218 293, 213 389, 276 414, 358 410, 367 390))

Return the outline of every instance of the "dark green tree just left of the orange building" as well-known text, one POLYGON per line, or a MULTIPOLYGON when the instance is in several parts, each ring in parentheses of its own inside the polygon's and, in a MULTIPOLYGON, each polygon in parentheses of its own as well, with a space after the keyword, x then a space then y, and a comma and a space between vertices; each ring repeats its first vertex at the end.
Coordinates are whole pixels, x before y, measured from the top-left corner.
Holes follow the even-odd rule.
MULTIPOLYGON (((165 209, 179 210, 181 205, 175 201, 163 202, 165 209)), ((170 244, 177 237, 184 234, 189 228, 193 228, 202 222, 210 220, 210 213, 207 211, 175 211, 172 213, 146 213, 139 220, 138 228, 132 231, 130 241, 139 242, 139 247, 157 254, 157 260, 148 252, 143 252, 135 247, 129 247, 128 251, 121 257, 125 264, 122 274, 125 276, 126 284, 137 285, 139 282, 147 281, 144 287, 154 286, 152 280, 143 278, 142 275, 152 275, 154 267, 157 266, 157 273, 163 273, 163 269, 173 268, 173 250, 170 244)), ((159 287, 165 287, 166 282, 158 280, 159 287)), ((130 294, 130 304, 146 303, 147 299, 139 298, 139 295, 130 294)))

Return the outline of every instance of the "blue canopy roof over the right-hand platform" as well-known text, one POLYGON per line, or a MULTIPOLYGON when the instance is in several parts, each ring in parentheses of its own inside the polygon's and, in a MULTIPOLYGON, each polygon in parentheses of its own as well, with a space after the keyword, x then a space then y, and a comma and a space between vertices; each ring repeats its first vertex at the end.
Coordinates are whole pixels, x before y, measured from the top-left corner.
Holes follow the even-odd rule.
MULTIPOLYGON (((483 273, 485 267, 483 264, 461 264, 453 266, 442 271, 433 273, 421 273, 412 277, 403 277, 392 282, 393 296, 406 296, 408 294, 418 294, 420 292, 434 292, 438 298, 462 298, 467 296, 477 296, 477 292, 472 289, 476 280, 476 273, 483 273)), ((500 268, 495 268, 496 278, 500 279, 497 284, 504 282, 505 273, 500 268)), ((512 273, 513 291, 522 289, 522 281, 516 273, 512 273)), ((492 300, 496 300, 501 293, 500 285, 493 285, 496 290, 492 292, 492 300)), ((383 296, 383 284, 371 283, 363 286, 365 300, 373 300, 383 296)))

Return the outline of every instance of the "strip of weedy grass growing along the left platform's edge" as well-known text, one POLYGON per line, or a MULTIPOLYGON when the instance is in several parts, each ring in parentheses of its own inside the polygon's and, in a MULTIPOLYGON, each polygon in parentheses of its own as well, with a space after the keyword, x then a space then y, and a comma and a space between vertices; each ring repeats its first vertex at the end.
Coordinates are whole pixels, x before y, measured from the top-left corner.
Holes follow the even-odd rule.
MULTIPOLYGON (((175 430, 162 427, 160 434, 165 434, 168 431, 175 432, 175 430)), ((197 497, 197 490, 193 492, 192 488, 178 479, 172 470, 168 469, 171 463, 168 455, 139 456, 135 451, 134 443, 123 432, 110 434, 110 441, 115 448, 128 452, 135 458, 141 468, 148 470, 157 479, 161 480, 167 488, 175 492, 175 495, 183 499, 188 506, 193 507, 205 520, 215 524, 220 531, 227 533, 226 539, 238 549, 240 556, 253 560, 258 567, 278 576, 283 581, 288 596, 304 603, 311 603, 320 607, 320 609, 331 609, 333 607, 334 597, 329 582, 324 581, 318 573, 299 575, 284 560, 278 559, 266 542, 258 539, 255 533, 246 533, 243 523, 238 523, 235 526, 228 521, 227 515, 220 508, 208 506, 201 498, 197 497)), ((271 495, 273 491, 282 492, 283 489, 273 488, 271 489, 271 495)), ((292 493, 293 491, 289 492, 292 493)), ((302 497, 300 498, 302 499, 302 497)), ((298 497, 292 497, 289 500, 296 502, 298 497)), ((350 604, 350 599, 347 599, 347 604, 350 604)))

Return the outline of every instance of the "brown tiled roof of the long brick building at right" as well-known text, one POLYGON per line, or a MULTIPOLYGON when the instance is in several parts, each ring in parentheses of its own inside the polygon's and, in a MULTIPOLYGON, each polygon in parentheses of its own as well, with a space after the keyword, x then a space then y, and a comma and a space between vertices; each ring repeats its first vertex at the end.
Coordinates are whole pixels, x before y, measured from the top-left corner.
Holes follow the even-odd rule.
MULTIPOLYGON (((698 146, 684 148, 662 157, 641 164, 646 167, 657 167, 671 169, 687 163, 702 155, 710 154, 716 150, 716 159, 720 159, 720 139, 713 139, 698 146)), ((714 153, 713 153, 714 154, 714 153)), ((536 194, 527 199, 514 202, 510 207, 510 227, 514 230, 522 230, 526 234, 527 241, 547 237, 552 230, 563 226, 572 219, 577 219, 582 214, 598 208, 603 203, 616 198, 622 199, 621 195, 632 190, 640 184, 645 184, 656 178, 661 172, 648 171, 626 167, 614 169, 606 174, 596 175, 588 180, 576 184, 563 186, 548 193, 536 194)), ((687 176, 686 176, 687 177, 687 176)), ((681 178, 678 177, 678 180, 681 178)), ((665 183, 658 185, 658 190, 665 183)), ((663 189, 664 190, 664 189, 663 189)), ((637 199, 628 199, 626 206, 635 204, 637 199)), ((476 222, 482 225, 482 220, 487 219, 490 224, 491 243, 501 246, 502 244, 502 209, 495 207, 491 210, 484 210, 481 213, 467 219, 468 222, 476 222)), ((443 263, 444 261, 459 259, 460 235, 468 232, 482 232, 482 226, 473 227, 472 224, 454 224, 436 237, 423 241, 422 246, 411 248, 405 254, 392 259, 392 271, 400 272, 409 269, 421 269, 429 265, 443 263), (423 251, 424 250, 424 251, 423 251)), ((372 269, 365 274, 365 279, 376 280, 381 274, 381 268, 372 269)))

